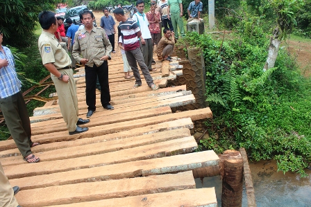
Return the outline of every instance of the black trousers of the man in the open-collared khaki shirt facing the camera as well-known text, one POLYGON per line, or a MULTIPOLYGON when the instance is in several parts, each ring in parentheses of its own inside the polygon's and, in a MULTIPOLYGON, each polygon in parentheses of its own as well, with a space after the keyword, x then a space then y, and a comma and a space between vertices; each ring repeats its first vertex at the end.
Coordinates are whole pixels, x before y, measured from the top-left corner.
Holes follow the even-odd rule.
POLYGON ((101 66, 85 66, 85 93, 87 109, 95 111, 96 109, 96 78, 99 78, 101 85, 101 105, 106 107, 110 105, 110 90, 108 83, 108 62, 104 61, 101 66))

